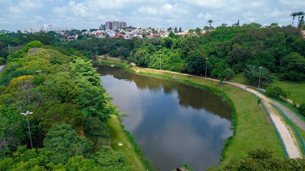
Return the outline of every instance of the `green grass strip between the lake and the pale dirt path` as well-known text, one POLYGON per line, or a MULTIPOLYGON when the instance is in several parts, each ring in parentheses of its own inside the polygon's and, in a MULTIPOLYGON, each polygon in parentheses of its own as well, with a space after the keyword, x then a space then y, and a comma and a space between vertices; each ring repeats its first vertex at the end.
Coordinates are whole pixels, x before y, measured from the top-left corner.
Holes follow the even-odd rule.
MULTIPOLYGON (((102 58, 101 62, 103 61, 107 62, 108 64, 118 63, 119 65, 122 65, 122 63, 118 60, 102 58)), ((241 159, 247 156, 250 150, 257 148, 266 148, 267 150, 274 152, 274 156, 276 157, 285 157, 283 146, 273 125, 268 119, 267 113, 262 106, 260 106, 259 110, 256 111, 257 98, 247 91, 233 85, 220 85, 218 82, 205 80, 202 77, 186 76, 183 74, 164 72, 149 68, 132 67, 129 69, 133 69, 133 71, 140 69, 140 74, 174 80, 199 88, 209 86, 212 89, 220 90, 223 92, 222 94, 225 94, 224 96, 229 97, 235 106, 235 120, 237 125, 232 141, 224 153, 223 162, 221 165, 228 164, 231 159, 241 159)), ((242 81, 242 75, 239 77, 241 77, 240 80, 242 81)))

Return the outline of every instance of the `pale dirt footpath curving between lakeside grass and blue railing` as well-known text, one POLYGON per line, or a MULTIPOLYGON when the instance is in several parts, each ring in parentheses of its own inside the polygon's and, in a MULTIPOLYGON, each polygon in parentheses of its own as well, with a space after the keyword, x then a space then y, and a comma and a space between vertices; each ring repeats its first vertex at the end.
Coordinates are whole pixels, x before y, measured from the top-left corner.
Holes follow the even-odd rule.
MULTIPOLYGON (((112 58, 112 59, 117 59, 117 58, 112 58)), ((134 66, 134 64, 133 64, 133 66, 134 66)), ((148 69, 151 69, 151 68, 148 68, 148 69)), ((159 69, 152 69, 152 70, 159 70, 159 69)), ((167 70, 160 70, 160 71, 171 72, 171 73, 175 73, 175 74, 187 75, 187 76, 192 76, 192 77, 199 77, 199 76, 196 76, 196 75, 190 75, 190 74, 167 71, 167 70)), ((199 78, 205 79, 205 77, 199 77, 199 78)), ((206 79, 219 82, 219 80, 208 78, 208 77, 206 79)), ((230 83, 230 82, 226 82, 226 83, 230 84, 230 85, 235 85, 235 86, 238 86, 238 87, 241 87, 241 88, 248 86, 248 85, 230 83)), ((254 90, 254 89, 251 89, 251 88, 248 88, 248 89, 243 88, 243 89, 247 90, 249 92, 252 92, 254 94, 257 94, 257 90, 254 90)), ((285 144, 286 151, 289 155, 289 158, 303 158, 299 147, 295 144, 296 139, 291 136, 291 134, 290 134, 289 130, 287 129, 283 120, 281 120, 281 118, 274 113, 273 106, 271 105, 271 103, 273 101, 270 100, 269 98, 267 98, 266 96, 260 94, 260 93, 258 94, 258 96, 261 98, 262 103, 264 103, 267 111, 270 114, 270 117, 272 118, 276 128, 278 129, 278 132, 281 135, 281 137, 283 139, 283 142, 285 144)))

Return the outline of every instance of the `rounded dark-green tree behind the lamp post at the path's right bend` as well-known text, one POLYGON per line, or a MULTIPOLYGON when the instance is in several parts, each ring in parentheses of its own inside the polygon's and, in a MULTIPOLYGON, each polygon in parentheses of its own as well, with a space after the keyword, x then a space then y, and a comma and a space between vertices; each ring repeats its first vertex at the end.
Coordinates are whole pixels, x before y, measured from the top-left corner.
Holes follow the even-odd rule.
MULTIPOLYGON (((245 76, 252 80, 255 85, 258 85, 259 77, 260 77, 260 68, 257 66, 247 65, 247 68, 244 69, 245 76)), ((261 81, 266 83, 272 83, 272 79, 274 76, 270 74, 270 71, 267 68, 262 68, 261 70, 261 81)))

